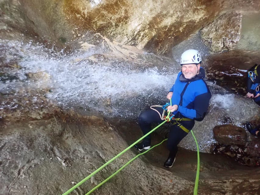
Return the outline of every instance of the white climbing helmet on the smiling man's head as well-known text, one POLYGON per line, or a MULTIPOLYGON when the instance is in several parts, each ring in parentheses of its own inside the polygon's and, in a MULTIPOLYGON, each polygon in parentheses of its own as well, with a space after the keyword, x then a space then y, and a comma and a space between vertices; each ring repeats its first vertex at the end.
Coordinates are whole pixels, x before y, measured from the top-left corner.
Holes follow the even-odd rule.
POLYGON ((180 65, 183 64, 199 64, 201 63, 201 55, 195 49, 184 51, 180 57, 180 65))

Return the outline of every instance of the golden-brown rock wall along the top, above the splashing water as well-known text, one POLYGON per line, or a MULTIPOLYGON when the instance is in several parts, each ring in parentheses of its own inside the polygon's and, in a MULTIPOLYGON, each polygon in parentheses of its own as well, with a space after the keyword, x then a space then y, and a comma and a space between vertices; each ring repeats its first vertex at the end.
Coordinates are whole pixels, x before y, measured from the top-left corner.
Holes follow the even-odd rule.
MULTIPOLYGON (((219 16, 226 17, 223 14, 230 11, 236 11, 238 15, 257 12, 260 3, 257 0, 1 0, 0 8, 2 31, 5 33, 19 31, 34 39, 37 37, 41 42, 68 47, 71 46, 71 41, 84 37, 87 32, 95 32, 121 44, 170 55, 173 46, 219 16)), ((235 22, 239 21, 238 18, 235 22)), ((220 24, 224 23, 220 21, 220 24)), ((214 23, 212 25, 216 27, 214 23)), ((228 24, 225 26, 230 28, 228 24)), ((226 28, 219 28, 219 34, 225 34, 226 28)), ((229 49, 239 39, 239 28, 236 29, 236 37, 230 37, 235 39, 233 45, 225 44, 229 49)), ((229 32, 231 34, 223 37, 224 39, 232 36, 232 30, 229 32)), ((5 36, 10 35, 6 33, 5 36)), ((212 40, 216 39, 213 37, 212 40)), ((219 46, 217 49, 211 44, 211 47, 214 52, 220 51, 219 46)))

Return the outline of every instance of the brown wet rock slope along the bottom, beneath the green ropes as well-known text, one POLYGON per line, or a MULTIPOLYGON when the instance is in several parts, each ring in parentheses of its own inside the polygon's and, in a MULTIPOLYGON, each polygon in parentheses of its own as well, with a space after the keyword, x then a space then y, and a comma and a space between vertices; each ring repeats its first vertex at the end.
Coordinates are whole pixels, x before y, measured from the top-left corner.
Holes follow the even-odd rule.
MULTIPOLYGON (((122 130, 129 126, 115 125, 103 117, 81 116, 62 110, 57 110, 48 119, 16 124, 6 122, 0 137, 0 193, 64 193, 128 147, 128 141, 136 140, 133 129, 127 142, 123 140, 117 132, 124 134, 122 130)), ((127 151, 72 194, 87 193, 138 153, 134 148, 127 151)), ((180 150, 172 169, 162 167, 166 157, 166 146, 160 145, 133 161, 94 194, 107 194, 108 191, 116 194, 191 194, 196 152, 180 150)), ((257 169, 242 168, 228 159, 202 153, 199 193, 210 194, 212 190, 215 194, 230 190, 240 193, 241 189, 235 187, 238 183, 250 185, 250 192, 257 193, 254 187, 259 182, 257 172, 257 169), (241 174, 239 179, 237 169, 241 174), (247 180, 248 176, 252 182, 247 180), (228 187, 223 186, 224 183, 228 187)))

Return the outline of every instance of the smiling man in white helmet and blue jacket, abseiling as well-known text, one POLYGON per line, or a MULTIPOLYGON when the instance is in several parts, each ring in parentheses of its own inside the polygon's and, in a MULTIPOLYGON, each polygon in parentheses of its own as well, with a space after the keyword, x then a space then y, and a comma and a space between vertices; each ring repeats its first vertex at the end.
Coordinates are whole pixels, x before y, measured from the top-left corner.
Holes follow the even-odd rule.
MULTIPOLYGON (((171 99, 172 106, 167 111, 172 112, 175 119, 170 127, 167 140, 169 157, 164 162, 165 167, 172 167, 178 152, 177 145, 189 133, 195 124, 195 120, 202 121, 208 109, 211 93, 203 80, 205 71, 200 67, 201 56, 197 50, 190 49, 181 55, 181 72, 178 74, 173 87, 167 95, 171 99)), ((156 108, 162 114, 163 108, 156 108)), ((151 123, 162 122, 161 116, 155 110, 149 109, 142 112, 139 117, 139 125, 144 135, 151 130, 151 123)), ((136 144, 135 147, 142 151, 151 147, 151 136, 136 144)))

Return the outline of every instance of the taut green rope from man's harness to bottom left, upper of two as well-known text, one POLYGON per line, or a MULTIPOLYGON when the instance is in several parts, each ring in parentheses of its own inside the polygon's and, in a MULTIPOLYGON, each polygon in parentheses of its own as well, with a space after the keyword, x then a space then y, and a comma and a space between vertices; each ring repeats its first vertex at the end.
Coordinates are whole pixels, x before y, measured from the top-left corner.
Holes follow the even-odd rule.
POLYGON ((114 158, 110 159, 108 162, 106 162, 104 165, 102 165, 101 167, 99 167, 97 170, 95 170, 93 173, 91 173, 89 176, 87 176, 85 179, 82 179, 79 183, 77 183, 75 186, 73 186, 72 188, 70 188, 68 191, 66 191, 65 193, 63 193, 62 195, 67 195, 69 193, 71 193, 73 190, 75 190, 77 187, 79 187, 80 185, 82 185, 84 182, 86 182, 89 178, 91 178, 92 176, 94 176, 97 172, 99 172, 102 168, 104 168, 105 166, 107 166, 108 164, 110 164, 112 161, 114 161, 116 158, 118 158, 119 156, 121 156, 123 153, 125 153, 127 150, 129 150, 131 147, 133 147, 135 144, 137 144, 138 142, 140 142, 141 140, 143 140, 146 136, 148 136, 149 134, 151 134, 153 131, 155 131, 155 129, 157 129, 158 127, 162 126, 165 122, 167 121, 163 121, 161 124, 159 124, 158 126, 156 126, 154 129, 152 129, 150 132, 146 133, 143 137, 141 137, 139 140, 135 141, 133 144, 131 144, 129 147, 127 147, 126 149, 124 149, 122 152, 120 152, 119 154, 117 154, 114 158))

